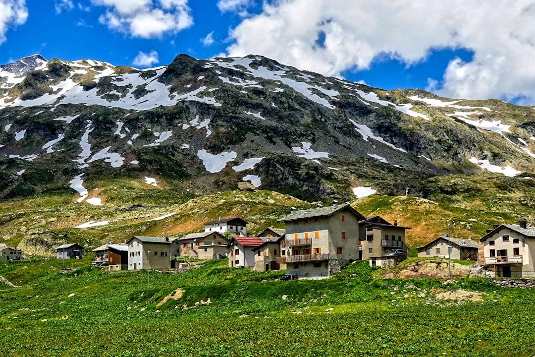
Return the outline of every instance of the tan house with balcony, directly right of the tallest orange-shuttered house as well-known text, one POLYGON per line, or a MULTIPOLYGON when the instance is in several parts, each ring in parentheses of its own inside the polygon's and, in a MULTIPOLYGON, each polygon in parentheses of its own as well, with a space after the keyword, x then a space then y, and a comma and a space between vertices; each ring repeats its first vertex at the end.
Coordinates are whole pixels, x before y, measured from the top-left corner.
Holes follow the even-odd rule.
POLYGON ((410 227, 402 227, 397 221, 394 224, 379 216, 366 218, 365 238, 361 240, 362 260, 385 256, 389 250, 401 248, 405 255, 410 255, 410 249, 405 244, 405 230, 410 227))

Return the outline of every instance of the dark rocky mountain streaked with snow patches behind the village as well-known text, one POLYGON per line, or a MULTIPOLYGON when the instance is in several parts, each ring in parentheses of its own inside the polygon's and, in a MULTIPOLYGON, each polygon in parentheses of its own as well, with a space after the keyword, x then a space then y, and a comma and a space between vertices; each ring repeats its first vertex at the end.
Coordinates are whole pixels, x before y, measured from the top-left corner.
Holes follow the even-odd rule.
POLYGON ((418 194, 433 176, 535 172, 534 144, 532 108, 387 92, 261 56, 142 71, 52 59, 0 78, 0 198, 59 181, 84 200, 97 176, 197 193, 249 181, 311 200, 418 194))

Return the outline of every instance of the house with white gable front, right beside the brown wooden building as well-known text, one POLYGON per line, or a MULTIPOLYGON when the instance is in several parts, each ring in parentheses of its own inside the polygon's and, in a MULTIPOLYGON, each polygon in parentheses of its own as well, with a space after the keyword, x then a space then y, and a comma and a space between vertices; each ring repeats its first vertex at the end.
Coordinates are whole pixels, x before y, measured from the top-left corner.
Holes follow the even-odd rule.
POLYGON ((165 237, 134 236, 127 245, 128 270, 169 269, 171 256, 178 250, 178 245, 165 237))

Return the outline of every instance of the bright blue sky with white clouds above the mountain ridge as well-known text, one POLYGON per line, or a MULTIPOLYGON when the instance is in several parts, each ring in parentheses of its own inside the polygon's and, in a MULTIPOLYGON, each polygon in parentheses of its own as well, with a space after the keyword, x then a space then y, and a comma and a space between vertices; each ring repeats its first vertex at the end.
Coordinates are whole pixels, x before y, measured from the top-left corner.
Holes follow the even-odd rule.
POLYGON ((533 105, 534 24, 521 0, 0 0, 0 63, 256 54, 387 90, 533 105))

